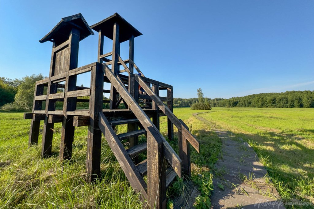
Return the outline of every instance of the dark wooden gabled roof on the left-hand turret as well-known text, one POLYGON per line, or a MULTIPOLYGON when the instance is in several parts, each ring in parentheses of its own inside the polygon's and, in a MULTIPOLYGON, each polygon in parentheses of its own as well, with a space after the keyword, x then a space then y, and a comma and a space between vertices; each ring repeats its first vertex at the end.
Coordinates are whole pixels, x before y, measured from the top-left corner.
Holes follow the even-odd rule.
POLYGON ((77 28, 80 31, 80 41, 85 39, 89 35, 94 35, 92 29, 90 29, 86 20, 84 19, 81 13, 74 14, 65 18, 62 18, 61 21, 41 40, 40 43, 46 41, 65 41, 69 38, 69 33, 73 27, 77 28))

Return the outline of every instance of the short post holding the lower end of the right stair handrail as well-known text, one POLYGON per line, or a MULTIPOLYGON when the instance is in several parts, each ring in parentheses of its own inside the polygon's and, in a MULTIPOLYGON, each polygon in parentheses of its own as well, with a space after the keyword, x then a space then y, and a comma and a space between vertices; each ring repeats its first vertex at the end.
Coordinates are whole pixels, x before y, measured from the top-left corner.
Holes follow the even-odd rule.
MULTIPOLYGON (((187 130, 189 128, 180 119, 180 122, 187 130)), ((180 131, 178 131, 179 157, 182 160, 184 175, 191 176, 191 159, 190 159, 190 143, 187 141, 180 131)))

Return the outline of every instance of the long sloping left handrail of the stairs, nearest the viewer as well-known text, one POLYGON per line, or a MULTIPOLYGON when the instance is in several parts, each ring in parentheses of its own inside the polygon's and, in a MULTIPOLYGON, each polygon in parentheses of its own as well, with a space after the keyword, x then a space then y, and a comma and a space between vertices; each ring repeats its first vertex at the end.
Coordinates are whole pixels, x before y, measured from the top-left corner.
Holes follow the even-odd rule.
MULTIPOLYGON (((129 105, 130 110, 134 113, 136 118, 140 121, 143 128, 147 131, 147 133, 152 133, 154 138, 160 138, 163 140, 163 153, 167 161, 170 163, 171 167, 176 171, 176 174, 181 178, 181 168, 182 168, 182 161, 176 152, 172 149, 170 144, 165 140, 165 138, 161 135, 158 131, 156 126, 152 123, 150 118, 145 114, 143 109, 138 106, 138 103, 134 100, 134 98, 130 95, 127 91, 125 86, 118 81, 116 76, 110 71, 110 69, 103 64, 103 71, 105 72, 108 79, 111 81, 113 86, 118 86, 118 92, 122 96, 122 98, 127 102, 129 105)), ((133 74, 136 75, 136 74, 133 74)))

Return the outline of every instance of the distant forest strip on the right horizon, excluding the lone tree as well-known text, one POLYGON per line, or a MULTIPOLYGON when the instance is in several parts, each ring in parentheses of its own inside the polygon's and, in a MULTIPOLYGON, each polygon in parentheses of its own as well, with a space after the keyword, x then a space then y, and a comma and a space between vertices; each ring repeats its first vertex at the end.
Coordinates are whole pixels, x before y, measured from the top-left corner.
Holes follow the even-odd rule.
MULTIPOLYGON (((198 98, 174 98, 174 107, 191 107, 198 98)), ((261 93, 244 97, 204 98, 211 107, 273 107, 273 108, 309 108, 314 107, 314 91, 286 91, 282 93, 261 93)))

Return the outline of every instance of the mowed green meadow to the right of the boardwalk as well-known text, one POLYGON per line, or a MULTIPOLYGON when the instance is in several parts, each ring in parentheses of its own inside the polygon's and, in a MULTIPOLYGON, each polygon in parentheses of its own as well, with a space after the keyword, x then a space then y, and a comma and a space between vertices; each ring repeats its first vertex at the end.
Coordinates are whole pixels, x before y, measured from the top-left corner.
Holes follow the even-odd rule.
POLYGON ((245 139, 284 200, 314 203, 314 108, 213 108, 200 117, 245 139))

